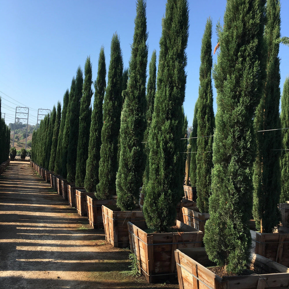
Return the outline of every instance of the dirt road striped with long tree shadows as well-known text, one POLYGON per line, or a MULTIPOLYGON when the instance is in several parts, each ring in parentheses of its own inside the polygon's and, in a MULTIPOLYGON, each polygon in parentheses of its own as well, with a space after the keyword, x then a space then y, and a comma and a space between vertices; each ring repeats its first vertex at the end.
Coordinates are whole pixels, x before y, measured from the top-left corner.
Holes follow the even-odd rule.
POLYGON ((28 162, 0 176, 0 289, 179 288, 131 277, 129 251, 112 247, 28 162))

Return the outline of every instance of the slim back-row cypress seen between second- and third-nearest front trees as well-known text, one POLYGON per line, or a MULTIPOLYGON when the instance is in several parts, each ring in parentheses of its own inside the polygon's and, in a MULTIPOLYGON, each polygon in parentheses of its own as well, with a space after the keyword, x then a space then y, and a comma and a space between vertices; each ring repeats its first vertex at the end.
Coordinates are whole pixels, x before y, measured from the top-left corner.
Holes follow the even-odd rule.
POLYGON ((153 106, 155 103, 155 91, 156 91, 156 79, 157 79, 157 66, 156 66, 156 52, 155 49, 151 55, 151 61, 149 63, 149 79, 147 81, 147 129, 144 132, 144 149, 146 153, 146 165, 143 177, 143 183, 146 183, 149 180, 149 144, 147 139, 149 137, 149 129, 151 127, 151 119, 153 117, 153 106))

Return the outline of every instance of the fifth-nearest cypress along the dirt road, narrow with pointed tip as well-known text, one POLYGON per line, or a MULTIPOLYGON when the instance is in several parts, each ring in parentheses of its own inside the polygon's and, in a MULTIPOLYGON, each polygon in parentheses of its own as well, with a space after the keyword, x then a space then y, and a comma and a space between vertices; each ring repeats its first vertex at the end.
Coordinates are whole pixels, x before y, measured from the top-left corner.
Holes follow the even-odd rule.
POLYGON ((105 55, 104 48, 101 47, 98 58, 97 79, 94 82, 95 93, 88 144, 88 159, 86 161, 86 175, 84 180, 84 188, 87 192, 96 192, 96 186, 99 183, 98 171, 101 147, 101 129, 103 125, 102 103, 106 86, 105 77, 105 55))

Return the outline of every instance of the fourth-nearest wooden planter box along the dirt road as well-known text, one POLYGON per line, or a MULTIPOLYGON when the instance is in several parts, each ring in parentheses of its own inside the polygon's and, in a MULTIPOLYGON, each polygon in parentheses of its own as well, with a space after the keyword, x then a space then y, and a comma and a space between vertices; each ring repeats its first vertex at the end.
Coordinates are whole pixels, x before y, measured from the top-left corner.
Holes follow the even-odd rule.
POLYGON ((98 200, 95 195, 86 195, 87 216, 91 227, 104 229, 102 218, 102 205, 116 205, 116 196, 111 200, 98 200))

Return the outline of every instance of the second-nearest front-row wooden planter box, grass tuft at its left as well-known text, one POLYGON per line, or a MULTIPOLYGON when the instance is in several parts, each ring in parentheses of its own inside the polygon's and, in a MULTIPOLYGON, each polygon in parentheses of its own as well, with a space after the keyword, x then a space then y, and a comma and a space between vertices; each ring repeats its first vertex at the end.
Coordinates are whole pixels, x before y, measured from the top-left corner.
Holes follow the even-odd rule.
POLYGON ((201 247, 203 232, 177 221, 181 232, 146 233, 145 222, 128 222, 129 243, 148 282, 176 278, 174 251, 201 247))

